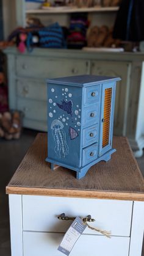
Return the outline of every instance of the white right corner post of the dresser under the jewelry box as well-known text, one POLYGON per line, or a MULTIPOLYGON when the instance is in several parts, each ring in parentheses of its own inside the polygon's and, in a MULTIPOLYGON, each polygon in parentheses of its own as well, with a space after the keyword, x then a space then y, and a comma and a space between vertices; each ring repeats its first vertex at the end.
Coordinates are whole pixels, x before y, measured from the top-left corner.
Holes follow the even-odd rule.
POLYGON ((129 256, 141 256, 144 231, 144 202, 134 202, 129 256))

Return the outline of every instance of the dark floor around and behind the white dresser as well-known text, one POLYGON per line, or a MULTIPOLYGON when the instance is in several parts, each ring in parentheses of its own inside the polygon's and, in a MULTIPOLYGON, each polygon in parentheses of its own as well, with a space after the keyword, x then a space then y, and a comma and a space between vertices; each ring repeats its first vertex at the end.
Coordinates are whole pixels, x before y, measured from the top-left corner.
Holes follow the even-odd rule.
MULTIPOLYGON (((0 140, 0 256, 10 256, 9 207, 5 186, 9 183, 36 134, 35 131, 24 130, 19 141, 0 140)), ((144 177, 144 156, 137 160, 144 177)))

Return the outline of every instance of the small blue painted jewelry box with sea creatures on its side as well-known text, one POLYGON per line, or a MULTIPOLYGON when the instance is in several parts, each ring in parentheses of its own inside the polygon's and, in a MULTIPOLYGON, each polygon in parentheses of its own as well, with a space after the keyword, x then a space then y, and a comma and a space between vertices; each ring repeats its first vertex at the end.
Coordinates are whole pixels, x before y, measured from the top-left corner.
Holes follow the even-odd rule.
POLYGON ((112 148, 116 82, 106 76, 48 79, 48 158, 82 178, 93 164, 108 161, 112 148))

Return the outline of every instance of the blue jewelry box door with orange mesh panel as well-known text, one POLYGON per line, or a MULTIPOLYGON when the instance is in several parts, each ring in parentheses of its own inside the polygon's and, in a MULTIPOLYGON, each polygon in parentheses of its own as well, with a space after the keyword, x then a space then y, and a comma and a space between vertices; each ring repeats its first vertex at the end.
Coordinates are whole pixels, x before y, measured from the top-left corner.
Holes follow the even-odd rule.
POLYGON ((115 88, 116 84, 114 82, 103 84, 102 86, 99 124, 99 156, 112 148, 115 88))

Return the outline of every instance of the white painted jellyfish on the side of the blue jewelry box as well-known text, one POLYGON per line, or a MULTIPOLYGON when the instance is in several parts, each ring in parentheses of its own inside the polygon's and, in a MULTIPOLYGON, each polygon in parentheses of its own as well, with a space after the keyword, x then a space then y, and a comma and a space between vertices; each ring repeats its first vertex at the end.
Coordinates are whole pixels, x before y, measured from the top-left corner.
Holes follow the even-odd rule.
POLYGON ((59 158, 65 158, 65 156, 68 155, 68 145, 63 127, 62 122, 57 119, 53 120, 51 123, 52 137, 55 142, 54 152, 59 158))

